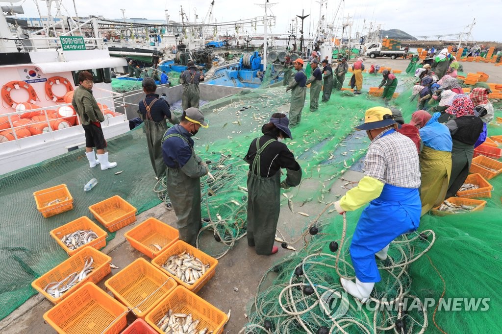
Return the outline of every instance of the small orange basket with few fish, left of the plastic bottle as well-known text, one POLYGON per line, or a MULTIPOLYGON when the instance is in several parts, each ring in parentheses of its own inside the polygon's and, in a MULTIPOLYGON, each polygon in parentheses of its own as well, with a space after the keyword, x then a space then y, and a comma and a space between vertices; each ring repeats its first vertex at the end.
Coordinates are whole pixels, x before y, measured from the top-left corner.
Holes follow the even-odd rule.
POLYGON ((65 184, 33 193, 37 210, 45 218, 73 209, 73 197, 65 184), (58 203, 52 203, 59 200, 58 203), (51 204, 52 203, 52 204, 51 204))

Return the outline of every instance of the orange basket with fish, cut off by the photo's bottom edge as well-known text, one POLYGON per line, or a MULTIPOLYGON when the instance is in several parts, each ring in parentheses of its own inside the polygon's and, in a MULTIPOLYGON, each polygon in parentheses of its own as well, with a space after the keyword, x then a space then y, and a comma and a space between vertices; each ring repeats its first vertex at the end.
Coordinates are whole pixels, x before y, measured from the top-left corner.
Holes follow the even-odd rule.
POLYGON ((177 286, 164 300, 147 314, 145 320, 163 334, 163 331, 157 327, 157 323, 169 310, 173 313, 192 314, 192 319, 199 320, 197 330, 207 327, 214 334, 222 333, 223 326, 227 321, 227 316, 218 308, 214 307, 195 293, 185 289, 183 286, 177 286))

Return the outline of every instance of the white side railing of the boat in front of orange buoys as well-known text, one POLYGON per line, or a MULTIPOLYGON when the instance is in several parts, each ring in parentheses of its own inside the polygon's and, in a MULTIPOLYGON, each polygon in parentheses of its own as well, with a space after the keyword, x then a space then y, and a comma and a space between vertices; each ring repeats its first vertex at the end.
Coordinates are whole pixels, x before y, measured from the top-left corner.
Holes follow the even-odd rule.
MULTIPOLYGON (((101 123, 103 127, 106 127, 109 125, 109 122, 110 122, 109 120, 112 117, 122 117, 122 118, 126 119, 125 114, 122 114, 122 113, 119 113, 118 111, 115 111, 117 109, 121 109, 121 108, 125 109, 126 108, 127 103, 126 103, 124 94, 109 91, 109 90, 106 90, 103 88, 98 88, 98 87, 94 87, 93 92, 95 92, 95 91, 101 91, 107 95, 107 96, 96 97, 96 101, 98 102, 98 105, 100 105, 100 109, 105 116, 104 121, 101 123)), ((14 136, 14 140, 10 140, 10 141, 15 141, 19 145, 18 140, 22 139, 22 138, 19 138, 17 131, 16 131, 17 129, 27 128, 30 125, 45 124, 46 126, 43 127, 44 130, 42 131, 42 133, 51 133, 52 138, 55 139, 53 133, 54 133, 54 131, 58 131, 58 130, 55 130, 51 124, 51 123, 54 123, 54 121, 65 120, 67 118, 75 117, 76 123, 73 126, 78 126, 81 124, 80 118, 76 114, 70 115, 70 116, 63 116, 63 115, 61 115, 61 113, 58 112, 61 107, 68 107, 68 106, 73 108, 71 103, 64 103, 64 104, 58 104, 57 106, 47 106, 47 107, 42 107, 42 108, 38 108, 38 109, 15 111, 15 112, 6 113, 6 114, 0 114, 0 117, 7 117, 7 120, 9 122, 9 128, 0 130, 0 132, 11 131, 10 133, 14 136), (55 107, 57 107, 57 110, 55 110, 55 107), (56 116, 54 116, 54 111, 56 111, 56 116), (31 123, 25 124, 25 125, 18 125, 18 126, 14 125, 13 122, 15 122, 18 119, 30 119, 31 118, 31 117, 30 118, 26 118, 26 117, 23 118, 23 117, 21 117, 21 115, 27 114, 27 113, 33 113, 33 112, 39 113, 39 115, 44 116, 45 119, 32 120, 31 123), (14 120, 13 120, 13 118, 14 118, 14 120)), ((40 133, 40 134, 42 134, 42 133, 40 133)), ((35 136, 36 135, 37 134, 35 134, 35 136)), ((31 135, 31 136, 34 136, 34 135, 31 135)), ((2 144, 2 142, 0 142, 0 145, 1 144, 2 144)))

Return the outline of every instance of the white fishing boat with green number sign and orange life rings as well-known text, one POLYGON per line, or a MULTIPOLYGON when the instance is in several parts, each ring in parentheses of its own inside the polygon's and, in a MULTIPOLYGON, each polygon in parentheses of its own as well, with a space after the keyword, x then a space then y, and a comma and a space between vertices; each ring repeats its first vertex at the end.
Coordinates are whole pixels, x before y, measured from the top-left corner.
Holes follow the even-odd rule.
POLYGON ((118 107, 121 94, 111 89, 110 68, 127 66, 110 57, 97 36, 97 21, 51 20, 35 32, 9 27, 7 17, 22 14, 21 6, 3 7, 0 15, 0 173, 5 174, 83 147, 84 130, 71 106, 78 72, 88 70, 93 94, 106 115, 106 138, 129 130, 118 107), (11 31, 13 30, 14 33, 11 31))

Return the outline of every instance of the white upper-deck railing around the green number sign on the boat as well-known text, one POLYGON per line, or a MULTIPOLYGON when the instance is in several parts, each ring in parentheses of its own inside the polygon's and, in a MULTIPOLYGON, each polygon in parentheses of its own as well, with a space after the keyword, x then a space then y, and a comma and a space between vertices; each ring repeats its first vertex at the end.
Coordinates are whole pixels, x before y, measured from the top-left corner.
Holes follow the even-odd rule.
POLYGON ((71 23, 73 20, 58 21, 40 30, 31 33, 29 39, 32 43, 23 43, 26 51, 37 51, 38 49, 62 49, 60 37, 81 36, 84 39, 86 49, 104 49, 105 44, 98 36, 97 20, 90 18, 82 23, 71 23), (67 26, 68 25, 68 26, 67 26), (94 37, 86 37, 90 33, 94 37))

